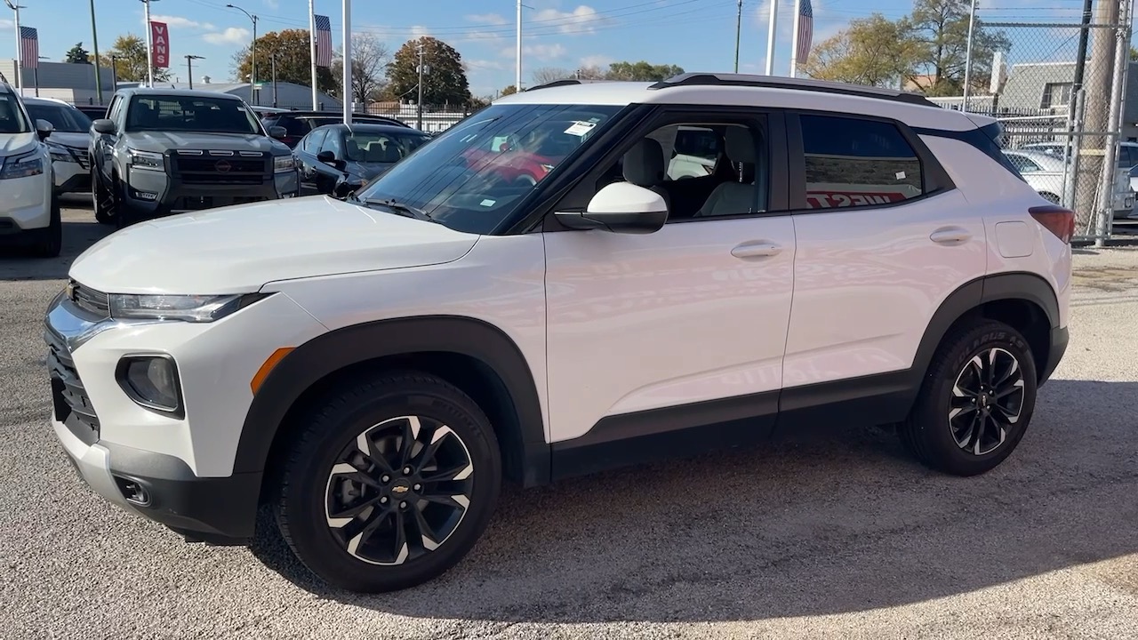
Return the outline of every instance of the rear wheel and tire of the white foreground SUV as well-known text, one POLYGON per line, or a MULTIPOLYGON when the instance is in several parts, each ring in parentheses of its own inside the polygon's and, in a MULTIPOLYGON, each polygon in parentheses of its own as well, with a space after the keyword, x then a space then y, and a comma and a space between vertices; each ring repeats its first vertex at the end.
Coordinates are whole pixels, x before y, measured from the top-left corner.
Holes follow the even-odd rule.
POLYGON ((1023 438, 1034 411, 1037 379, 1031 347, 1020 331, 991 320, 970 322, 937 350, 898 433, 931 469, 957 476, 987 473, 1023 438), (989 386, 978 376, 987 377, 993 359, 992 379, 999 384, 989 386), (979 438, 976 417, 986 419, 979 438))

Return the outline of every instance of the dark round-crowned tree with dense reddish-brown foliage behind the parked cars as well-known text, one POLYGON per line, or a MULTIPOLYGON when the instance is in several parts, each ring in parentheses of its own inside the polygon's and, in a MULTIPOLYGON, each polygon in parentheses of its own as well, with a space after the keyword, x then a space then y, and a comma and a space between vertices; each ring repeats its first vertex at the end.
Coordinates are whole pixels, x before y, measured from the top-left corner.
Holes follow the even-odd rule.
POLYGON ((417 99, 419 93, 419 47, 423 48, 423 104, 469 105, 470 82, 462 56, 453 47, 429 35, 409 40, 387 66, 387 95, 391 99, 417 99))

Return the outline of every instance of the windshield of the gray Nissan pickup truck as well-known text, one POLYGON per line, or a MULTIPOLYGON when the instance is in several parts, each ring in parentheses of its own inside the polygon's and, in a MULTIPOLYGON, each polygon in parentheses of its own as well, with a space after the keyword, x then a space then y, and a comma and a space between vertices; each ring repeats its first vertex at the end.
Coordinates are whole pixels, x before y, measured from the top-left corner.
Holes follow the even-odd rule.
POLYGON ((240 100, 181 96, 137 96, 126 131, 263 133, 261 121, 240 100))

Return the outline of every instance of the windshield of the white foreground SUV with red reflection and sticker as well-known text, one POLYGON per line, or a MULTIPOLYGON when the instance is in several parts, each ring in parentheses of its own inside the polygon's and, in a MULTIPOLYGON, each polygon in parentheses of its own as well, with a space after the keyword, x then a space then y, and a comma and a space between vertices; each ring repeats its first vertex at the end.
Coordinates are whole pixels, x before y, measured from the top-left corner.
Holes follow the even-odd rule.
POLYGON ((452 229, 489 233, 621 108, 492 105, 434 138, 358 197, 393 199, 452 229))

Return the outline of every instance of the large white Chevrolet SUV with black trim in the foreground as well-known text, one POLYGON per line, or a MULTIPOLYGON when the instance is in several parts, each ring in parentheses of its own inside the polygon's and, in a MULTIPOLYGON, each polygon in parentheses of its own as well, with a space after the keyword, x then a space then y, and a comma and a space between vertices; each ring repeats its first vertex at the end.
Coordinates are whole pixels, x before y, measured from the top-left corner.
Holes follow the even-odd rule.
POLYGON ((90 486, 212 543, 271 504, 313 572, 384 591, 460 561, 503 481, 814 425, 896 426, 962 476, 1012 453, 1066 348, 1074 215, 993 121, 764 76, 554 84, 346 202, 80 256, 46 337, 90 486), (536 184, 533 149, 486 150, 554 122, 582 143, 536 184), (682 126, 721 140, 709 174, 669 180, 682 126))

